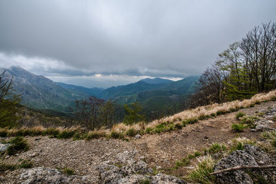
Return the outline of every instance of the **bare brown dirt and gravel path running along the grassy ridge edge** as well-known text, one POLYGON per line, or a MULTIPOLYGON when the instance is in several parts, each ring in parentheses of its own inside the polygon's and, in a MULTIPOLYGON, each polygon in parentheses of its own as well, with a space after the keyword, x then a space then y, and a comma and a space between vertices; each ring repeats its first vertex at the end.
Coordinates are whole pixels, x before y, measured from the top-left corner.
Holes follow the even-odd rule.
MULTIPOLYGON (((270 101, 255 105, 254 108, 240 110, 248 115, 255 115, 257 111, 264 110, 276 102, 270 101)), ((124 152, 137 152, 133 154, 134 160, 143 159, 151 167, 161 166, 166 170, 195 150, 202 151, 212 143, 228 143, 236 136, 244 136, 248 139, 258 139, 260 132, 245 130, 235 133, 231 130, 232 123, 237 123, 233 112, 218 116, 215 119, 199 121, 183 127, 182 130, 162 134, 146 134, 140 139, 122 141, 118 139, 92 139, 90 141, 72 141, 62 139, 50 139, 47 136, 28 137, 30 150, 4 159, 6 163, 19 163, 21 159, 31 160, 34 167, 63 168, 70 167, 79 176, 88 176, 90 182, 99 181, 97 166, 104 161, 119 163, 118 154, 124 152)), ((0 181, 14 183, 22 170, 6 172, 2 174, 0 181)), ((166 174, 184 176, 187 170, 184 167, 174 171, 166 171, 166 174)))

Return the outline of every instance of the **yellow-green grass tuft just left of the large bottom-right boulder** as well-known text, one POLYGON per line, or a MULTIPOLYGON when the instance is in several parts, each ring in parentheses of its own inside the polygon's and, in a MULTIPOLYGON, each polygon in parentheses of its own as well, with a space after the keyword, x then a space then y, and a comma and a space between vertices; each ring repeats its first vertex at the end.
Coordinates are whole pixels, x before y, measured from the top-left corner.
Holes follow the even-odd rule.
POLYGON ((189 172, 188 178, 195 183, 215 183, 215 176, 210 175, 214 172, 214 165, 213 158, 207 155, 199 161, 195 170, 189 172))

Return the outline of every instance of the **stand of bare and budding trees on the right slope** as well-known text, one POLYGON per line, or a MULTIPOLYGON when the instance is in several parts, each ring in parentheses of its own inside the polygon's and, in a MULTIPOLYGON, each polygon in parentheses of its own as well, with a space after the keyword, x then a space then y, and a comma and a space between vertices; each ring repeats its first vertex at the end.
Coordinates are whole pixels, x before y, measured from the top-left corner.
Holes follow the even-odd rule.
POLYGON ((229 45, 201 74, 193 106, 248 99, 276 88, 276 24, 263 23, 229 45))

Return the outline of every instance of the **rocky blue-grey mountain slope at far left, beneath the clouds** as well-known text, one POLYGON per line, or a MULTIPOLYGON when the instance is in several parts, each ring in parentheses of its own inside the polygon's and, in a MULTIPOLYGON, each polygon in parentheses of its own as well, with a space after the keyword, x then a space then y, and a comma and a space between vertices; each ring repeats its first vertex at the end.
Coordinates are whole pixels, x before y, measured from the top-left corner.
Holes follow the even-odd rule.
POLYGON ((68 106, 75 104, 75 100, 88 96, 81 92, 73 92, 61 88, 44 76, 38 76, 20 67, 0 68, 6 70, 5 76, 12 76, 12 88, 21 94, 22 104, 35 109, 52 109, 66 111, 68 106))

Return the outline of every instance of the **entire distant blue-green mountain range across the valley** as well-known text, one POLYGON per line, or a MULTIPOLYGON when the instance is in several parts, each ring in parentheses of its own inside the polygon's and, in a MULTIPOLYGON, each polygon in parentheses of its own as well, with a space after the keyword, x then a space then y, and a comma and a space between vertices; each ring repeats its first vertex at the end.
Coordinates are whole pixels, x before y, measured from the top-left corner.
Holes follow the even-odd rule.
POLYGON ((97 96, 111 99, 119 105, 139 101, 145 112, 166 111, 181 105, 195 92, 195 82, 199 76, 190 76, 179 81, 168 79, 142 79, 136 83, 112 88, 84 88, 66 83, 55 83, 50 79, 35 75, 20 67, 0 68, 5 77, 12 77, 13 88, 21 94, 22 104, 34 109, 49 109, 66 112, 78 99, 97 96))

